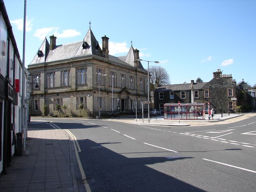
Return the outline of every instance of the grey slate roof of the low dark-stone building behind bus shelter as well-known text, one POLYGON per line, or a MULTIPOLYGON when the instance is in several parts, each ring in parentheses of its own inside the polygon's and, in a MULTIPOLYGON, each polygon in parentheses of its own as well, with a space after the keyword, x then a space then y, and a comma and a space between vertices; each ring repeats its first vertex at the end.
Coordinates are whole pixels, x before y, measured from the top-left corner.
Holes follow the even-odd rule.
MULTIPOLYGON (((207 82, 195 82, 193 85, 195 90, 202 89, 207 82)), ((168 84, 162 85, 158 87, 156 91, 180 91, 180 90, 191 90, 191 83, 183 83, 183 84, 168 84)))

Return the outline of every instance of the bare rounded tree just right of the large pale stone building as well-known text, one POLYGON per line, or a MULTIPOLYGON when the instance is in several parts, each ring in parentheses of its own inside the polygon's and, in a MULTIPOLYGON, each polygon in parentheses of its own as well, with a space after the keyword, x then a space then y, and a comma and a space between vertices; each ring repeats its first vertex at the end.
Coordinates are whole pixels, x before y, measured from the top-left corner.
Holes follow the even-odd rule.
POLYGON ((153 65, 149 67, 150 72, 150 90, 153 91, 159 85, 170 84, 169 74, 163 67, 153 65))

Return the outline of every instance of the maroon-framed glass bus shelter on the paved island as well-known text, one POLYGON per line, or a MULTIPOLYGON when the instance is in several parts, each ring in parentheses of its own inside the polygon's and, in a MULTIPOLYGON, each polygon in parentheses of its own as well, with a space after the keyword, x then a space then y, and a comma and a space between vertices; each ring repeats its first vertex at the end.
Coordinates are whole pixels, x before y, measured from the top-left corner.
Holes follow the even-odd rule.
POLYGON ((163 110, 164 119, 205 119, 204 103, 166 103, 163 110))

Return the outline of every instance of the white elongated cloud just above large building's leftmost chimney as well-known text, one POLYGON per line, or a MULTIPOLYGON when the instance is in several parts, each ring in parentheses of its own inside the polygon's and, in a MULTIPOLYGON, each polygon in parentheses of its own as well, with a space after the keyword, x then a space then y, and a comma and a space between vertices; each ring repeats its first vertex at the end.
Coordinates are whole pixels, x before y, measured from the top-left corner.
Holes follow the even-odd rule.
POLYGON ((34 36, 38 37, 40 40, 43 40, 46 36, 49 35, 55 35, 55 37, 57 38, 68 38, 75 37, 81 34, 81 32, 78 32, 75 29, 65 29, 62 31, 62 33, 59 33, 59 29, 59 27, 44 27, 42 29, 37 29, 34 36))

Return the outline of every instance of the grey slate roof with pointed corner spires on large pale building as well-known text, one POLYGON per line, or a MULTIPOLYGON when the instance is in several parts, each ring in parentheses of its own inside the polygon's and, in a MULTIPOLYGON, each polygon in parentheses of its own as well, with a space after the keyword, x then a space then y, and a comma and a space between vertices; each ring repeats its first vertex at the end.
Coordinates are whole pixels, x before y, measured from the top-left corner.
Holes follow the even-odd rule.
MULTIPOLYGON (((115 57, 113 55, 109 55, 109 61, 113 61, 130 67, 135 67, 133 51, 134 48, 131 46, 126 56, 115 57)), ((57 45, 54 47, 53 50, 49 50, 49 42, 47 41, 47 38, 45 38, 41 47, 38 49, 38 52, 29 65, 41 64, 44 62, 61 61, 72 58, 82 58, 89 55, 97 55, 103 57, 102 49, 99 46, 99 42, 96 40, 91 29, 88 30, 82 41, 73 42, 70 44, 57 45)), ((139 68, 144 69, 140 61, 139 68)))

